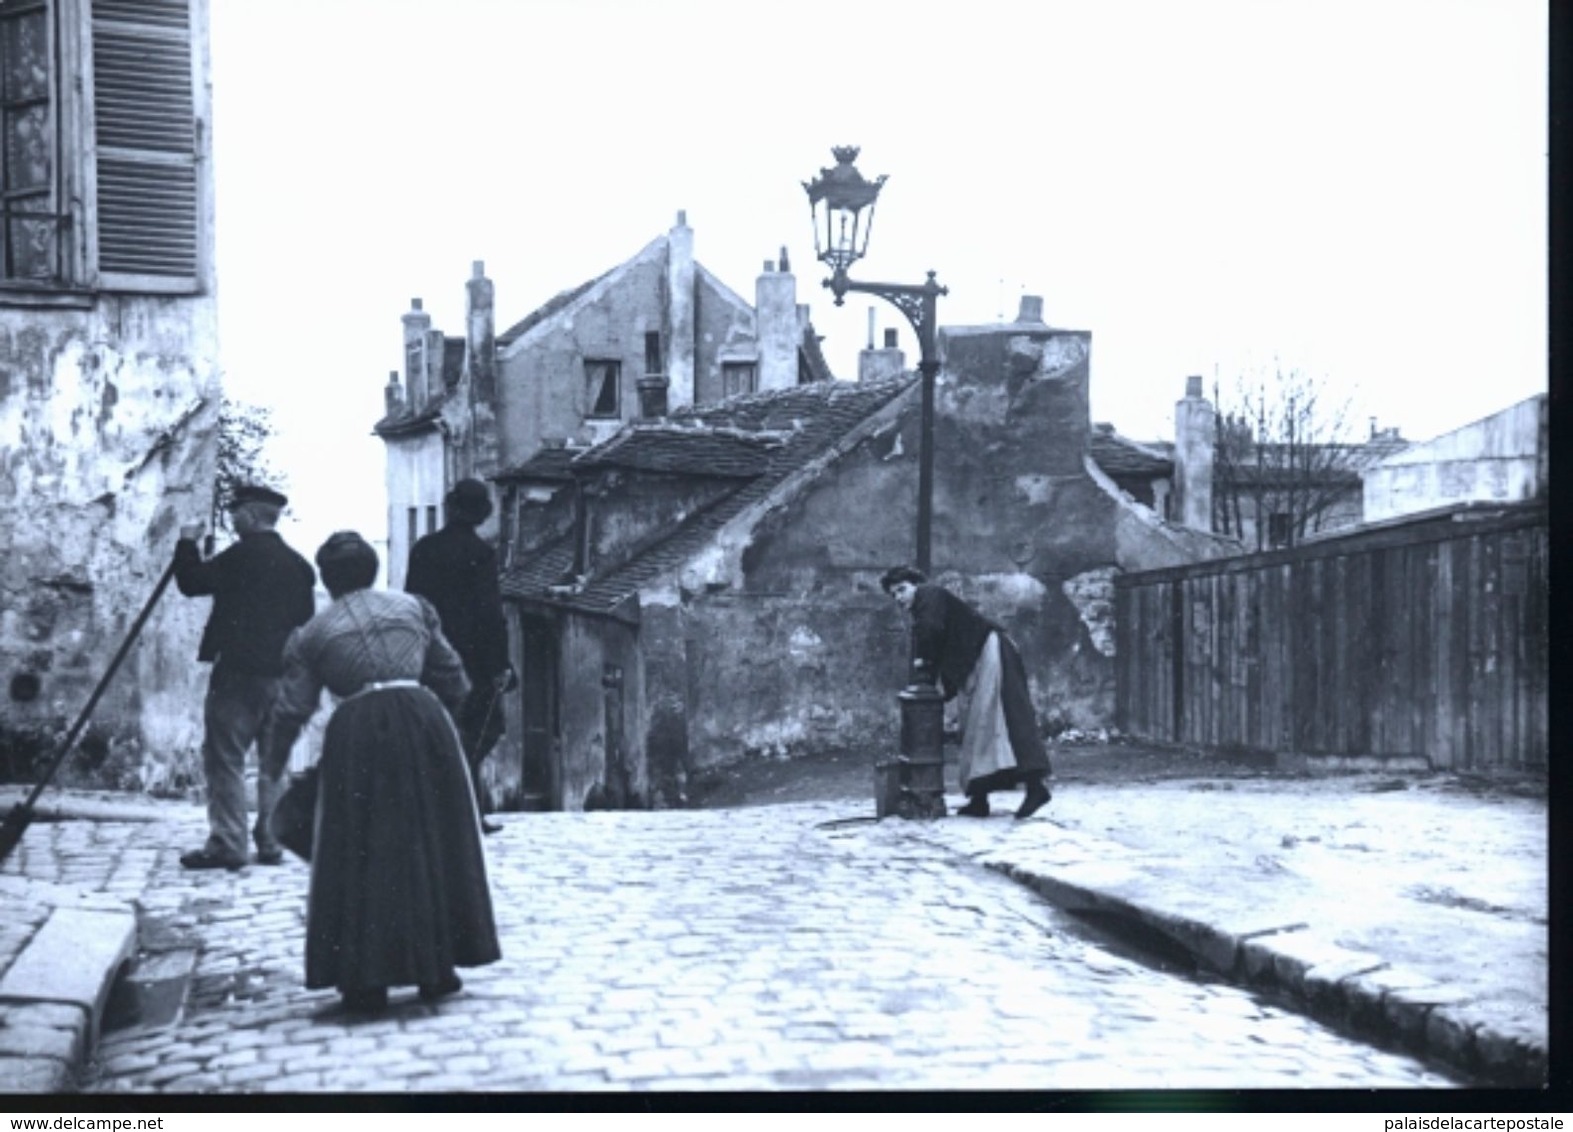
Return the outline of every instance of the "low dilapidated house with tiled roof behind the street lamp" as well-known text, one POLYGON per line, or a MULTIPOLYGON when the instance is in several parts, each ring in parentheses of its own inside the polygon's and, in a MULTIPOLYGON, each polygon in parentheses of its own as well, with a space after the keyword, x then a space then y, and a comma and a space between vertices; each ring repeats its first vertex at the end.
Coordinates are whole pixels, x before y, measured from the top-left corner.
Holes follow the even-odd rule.
MULTIPOLYGON (((1021 645, 1046 723, 1112 722, 1126 569, 1238 546, 1134 506, 1095 462, 1090 335, 942 330, 934 575, 1021 645)), ((516 616, 505 805, 681 805, 746 758, 892 750, 919 384, 897 373, 672 407, 497 476, 516 616)))

